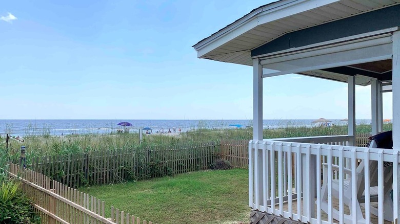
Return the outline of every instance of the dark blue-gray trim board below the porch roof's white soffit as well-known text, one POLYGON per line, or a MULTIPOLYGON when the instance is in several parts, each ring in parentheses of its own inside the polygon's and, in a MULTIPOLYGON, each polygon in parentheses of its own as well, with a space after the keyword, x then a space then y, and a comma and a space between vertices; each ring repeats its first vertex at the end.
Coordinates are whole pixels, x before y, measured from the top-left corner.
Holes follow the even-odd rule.
POLYGON ((251 56, 400 26, 400 5, 287 33, 251 51, 251 56))

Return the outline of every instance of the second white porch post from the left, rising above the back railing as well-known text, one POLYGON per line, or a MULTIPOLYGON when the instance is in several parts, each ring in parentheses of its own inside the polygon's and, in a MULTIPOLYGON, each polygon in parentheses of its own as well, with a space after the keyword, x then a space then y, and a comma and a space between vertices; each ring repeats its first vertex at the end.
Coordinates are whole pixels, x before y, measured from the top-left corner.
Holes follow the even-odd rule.
POLYGON ((349 76, 347 82, 347 118, 349 119, 348 135, 353 136, 349 139, 349 145, 355 146, 355 76, 349 76))

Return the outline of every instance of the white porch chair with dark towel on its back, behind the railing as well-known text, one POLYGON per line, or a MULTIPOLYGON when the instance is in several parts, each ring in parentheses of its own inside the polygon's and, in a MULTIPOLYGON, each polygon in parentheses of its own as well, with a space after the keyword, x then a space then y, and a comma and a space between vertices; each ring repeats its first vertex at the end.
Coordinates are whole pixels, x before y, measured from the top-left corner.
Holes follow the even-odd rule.
MULTIPOLYGON (((376 136, 370 137, 370 141, 367 145, 370 148, 393 148, 393 140, 392 140, 392 131, 387 131, 380 133, 376 136)), ((377 193, 377 185, 378 185, 378 173, 377 173, 377 161, 370 161, 370 202, 376 202, 378 200, 377 193)), ((364 168, 365 161, 361 161, 356 168, 356 176, 353 177, 351 170, 348 168, 343 168, 344 174, 347 174, 346 179, 344 179, 343 186, 343 201, 344 205, 349 207, 350 214, 344 215, 344 223, 352 223, 352 200, 356 201, 356 213, 357 213, 357 222, 365 223, 365 218, 361 211, 361 206, 369 206, 365 205, 365 185, 364 185, 364 168), (356 178, 356 189, 357 189, 357 198, 352 198, 352 178, 356 178)), ((339 172, 339 167, 336 165, 332 165, 332 170, 339 172)), ((391 198, 391 190, 393 183, 393 166, 390 163, 384 164, 384 219, 388 221, 393 221, 393 200, 391 198)), ((332 180, 332 197, 339 198, 339 180, 332 180)), ((328 164, 323 164, 323 185, 321 188, 321 209, 328 214, 328 164)), ((336 220, 339 220, 339 211, 335 208, 332 208, 332 217, 336 220)), ((375 216, 378 215, 378 210, 370 206, 370 211, 375 216)))

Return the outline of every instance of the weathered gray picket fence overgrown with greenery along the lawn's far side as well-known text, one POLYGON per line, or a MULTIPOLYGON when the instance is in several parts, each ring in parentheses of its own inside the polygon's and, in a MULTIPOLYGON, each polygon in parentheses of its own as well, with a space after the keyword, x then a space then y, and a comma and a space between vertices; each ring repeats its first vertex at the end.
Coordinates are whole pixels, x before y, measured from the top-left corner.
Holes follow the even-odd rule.
POLYGON ((68 187, 111 184, 128 180, 210 169, 219 143, 91 151, 33 158, 28 167, 68 187))

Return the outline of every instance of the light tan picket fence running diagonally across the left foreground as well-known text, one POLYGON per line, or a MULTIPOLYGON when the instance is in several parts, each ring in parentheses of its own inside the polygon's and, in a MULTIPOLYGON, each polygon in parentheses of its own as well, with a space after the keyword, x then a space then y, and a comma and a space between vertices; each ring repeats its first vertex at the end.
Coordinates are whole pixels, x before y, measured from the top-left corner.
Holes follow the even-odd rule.
POLYGON ((152 224, 139 217, 111 207, 111 217, 105 216, 105 202, 70 188, 50 177, 21 166, 9 163, 10 176, 21 180, 24 193, 33 199, 34 209, 41 222, 55 223, 108 223, 108 224, 152 224))

